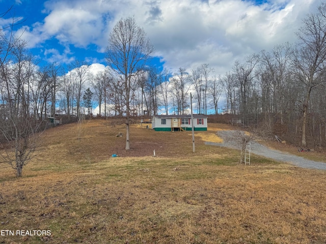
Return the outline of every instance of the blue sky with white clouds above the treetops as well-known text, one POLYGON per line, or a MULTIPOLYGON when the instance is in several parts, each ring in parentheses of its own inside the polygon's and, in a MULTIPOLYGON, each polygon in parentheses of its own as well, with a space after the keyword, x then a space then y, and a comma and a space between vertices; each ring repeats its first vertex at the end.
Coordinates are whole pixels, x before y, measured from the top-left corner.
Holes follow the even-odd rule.
POLYGON ((209 64, 217 74, 235 60, 296 41, 320 0, 0 0, 0 19, 22 18, 17 35, 44 62, 104 64, 112 27, 134 16, 155 47, 155 64, 175 71, 209 64))

